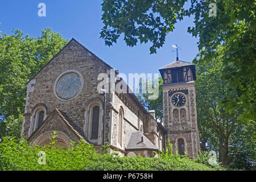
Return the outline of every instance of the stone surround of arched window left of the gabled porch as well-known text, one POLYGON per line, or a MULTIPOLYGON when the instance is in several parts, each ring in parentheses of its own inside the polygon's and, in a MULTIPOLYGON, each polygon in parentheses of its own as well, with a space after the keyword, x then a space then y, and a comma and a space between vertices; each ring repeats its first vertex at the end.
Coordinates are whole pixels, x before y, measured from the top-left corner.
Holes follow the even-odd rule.
POLYGON ((30 136, 33 131, 36 130, 36 126, 38 125, 38 117, 40 111, 44 111, 44 119, 46 119, 47 115, 47 108, 44 104, 38 104, 35 106, 35 108, 32 111, 32 115, 30 118, 30 129, 28 130, 28 136, 30 136))

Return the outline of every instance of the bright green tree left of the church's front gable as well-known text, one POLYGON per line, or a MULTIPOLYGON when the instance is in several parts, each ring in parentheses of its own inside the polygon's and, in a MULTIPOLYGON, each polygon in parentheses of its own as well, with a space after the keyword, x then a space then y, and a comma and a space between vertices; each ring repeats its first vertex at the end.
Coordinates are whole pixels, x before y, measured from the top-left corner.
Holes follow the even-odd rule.
POLYGON ((67 44, 51 28, 31 38, 19 30, 0 36, 1 135, 19 136, 26 103, 26 82, 67 44), (5 126, 3 126, 5 125, 5 126))

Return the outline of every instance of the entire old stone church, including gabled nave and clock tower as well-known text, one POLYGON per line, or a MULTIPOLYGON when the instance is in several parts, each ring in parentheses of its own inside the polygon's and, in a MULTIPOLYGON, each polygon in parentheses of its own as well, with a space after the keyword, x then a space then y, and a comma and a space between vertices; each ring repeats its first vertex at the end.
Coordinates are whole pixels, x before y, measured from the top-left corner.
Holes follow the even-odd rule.
MULTIPOLYGON (((175 61, 160 68, 163 77, 163 123, 129 92, 102 95, 97 76, 113 68, 75 39, 61 49, 30 81, 22 124, 24 138, 39 145, 51 142, 68 148, 72 141, 92 143, 101 152, 108 142, 121 156, 155 156, 169 139, 174 152, 197 154, 195 65, 175 61), (104 100, 105 98, 105 100, 104 100), (105 106, 105 115, 104 115, 105 106), (105 122, 105 127, 104 127, 105 122), (104 130, 105 129, 105 130, 104 130), (105 134, 105 136, 104 136, 105 134)), ((114 71, 114 84, 119 83, 114 71)))

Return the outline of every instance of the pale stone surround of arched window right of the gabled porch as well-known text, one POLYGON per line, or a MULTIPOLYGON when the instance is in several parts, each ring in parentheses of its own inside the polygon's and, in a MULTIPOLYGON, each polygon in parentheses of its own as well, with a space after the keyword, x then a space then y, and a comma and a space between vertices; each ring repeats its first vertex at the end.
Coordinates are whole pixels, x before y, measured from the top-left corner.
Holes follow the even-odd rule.
POLYGON ((102 144, 102 117, 103 117, 103 104, 102 101, 98 98, 94 98, 88 102, 88 104, 85 107, 85 124, 84 124, 84 134, 85 137, 92 142, 93 144, 100 145, 102 144), (100 117, 99 117, 99 125, 98 125, 98 139, 90 139, 90 136, 92 134, 92 114, 93 114, 93 108, 95 106, 100 107, 100 117))

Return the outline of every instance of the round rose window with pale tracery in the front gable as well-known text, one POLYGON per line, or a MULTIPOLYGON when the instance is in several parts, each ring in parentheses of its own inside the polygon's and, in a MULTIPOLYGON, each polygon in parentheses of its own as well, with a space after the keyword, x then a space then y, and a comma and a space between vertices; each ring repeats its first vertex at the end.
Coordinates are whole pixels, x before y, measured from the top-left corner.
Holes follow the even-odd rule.
POLYGON ((81 85, 81 78, 77 73, 67 73, 57 82, 56 93, 60 98, 69 100, 80 92, 81 85))

